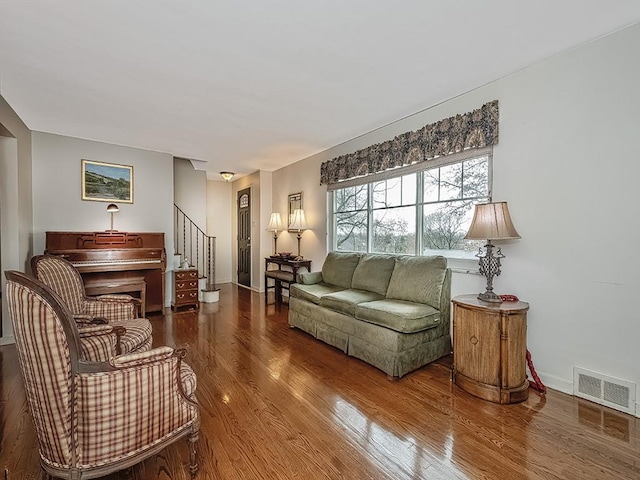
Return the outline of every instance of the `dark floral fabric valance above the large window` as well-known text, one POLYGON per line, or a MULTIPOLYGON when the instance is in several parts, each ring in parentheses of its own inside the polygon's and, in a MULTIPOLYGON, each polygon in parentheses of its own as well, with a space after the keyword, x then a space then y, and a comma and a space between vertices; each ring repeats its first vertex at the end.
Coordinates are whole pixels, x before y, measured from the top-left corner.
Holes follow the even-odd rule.
POLYGON ((333 184, 390 168, 498 143, 498 100, 324 162, 320 184, 333 184))

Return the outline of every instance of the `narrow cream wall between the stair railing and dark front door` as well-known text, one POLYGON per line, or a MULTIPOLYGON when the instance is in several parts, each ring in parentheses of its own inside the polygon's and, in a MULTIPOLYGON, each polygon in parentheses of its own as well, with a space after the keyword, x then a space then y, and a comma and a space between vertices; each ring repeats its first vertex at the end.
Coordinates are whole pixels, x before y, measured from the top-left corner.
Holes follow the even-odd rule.
POLYGON ((235 209, 231 184, 207 181, 207 235, 216 237, 216 283, 236 281, 231 257, 235 243, 231 231, 231 214, 235 209))

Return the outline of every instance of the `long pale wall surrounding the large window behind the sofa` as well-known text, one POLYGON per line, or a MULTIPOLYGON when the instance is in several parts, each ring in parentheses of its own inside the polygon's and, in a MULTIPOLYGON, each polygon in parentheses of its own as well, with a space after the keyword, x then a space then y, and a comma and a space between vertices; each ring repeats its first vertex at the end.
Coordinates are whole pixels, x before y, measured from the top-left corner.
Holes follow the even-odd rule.
MULTIPOLYGON (((498 99, 493 199, 509 202, 522 239, 501 243, 496 291, 530 303, 528 347, 548 386, 570 392, 574 366, 640 384, 638 45, 640 25, 278 170, 273 208, 285 214, 287 194, 304 192, 302 250, 318 270, 321 162, 498 99)), ((294 242, 283 234, 278 245, 294 242)), ((453 276, 454 295, 483 287, 483 277, 453 276)))

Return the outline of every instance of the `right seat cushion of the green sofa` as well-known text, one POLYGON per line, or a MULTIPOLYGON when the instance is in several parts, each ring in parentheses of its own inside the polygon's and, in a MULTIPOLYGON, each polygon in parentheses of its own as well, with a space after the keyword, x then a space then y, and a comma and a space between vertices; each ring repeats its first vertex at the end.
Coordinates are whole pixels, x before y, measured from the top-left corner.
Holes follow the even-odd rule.
POLYGON ((404 300, 384 299, 361 303, 356 306, 355 317, 401 333, 420 332, 440 324, 438 310, 404 300))

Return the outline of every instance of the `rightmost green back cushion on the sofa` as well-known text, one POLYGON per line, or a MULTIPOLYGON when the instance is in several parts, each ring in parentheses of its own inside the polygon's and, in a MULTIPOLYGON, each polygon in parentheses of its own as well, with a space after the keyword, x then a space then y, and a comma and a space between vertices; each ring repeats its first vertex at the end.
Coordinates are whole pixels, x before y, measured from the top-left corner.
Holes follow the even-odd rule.
POLYGON ((441 256, 396 257, 387 298, 426 303, 439 308, 446 272, 447 259, 441 256))

